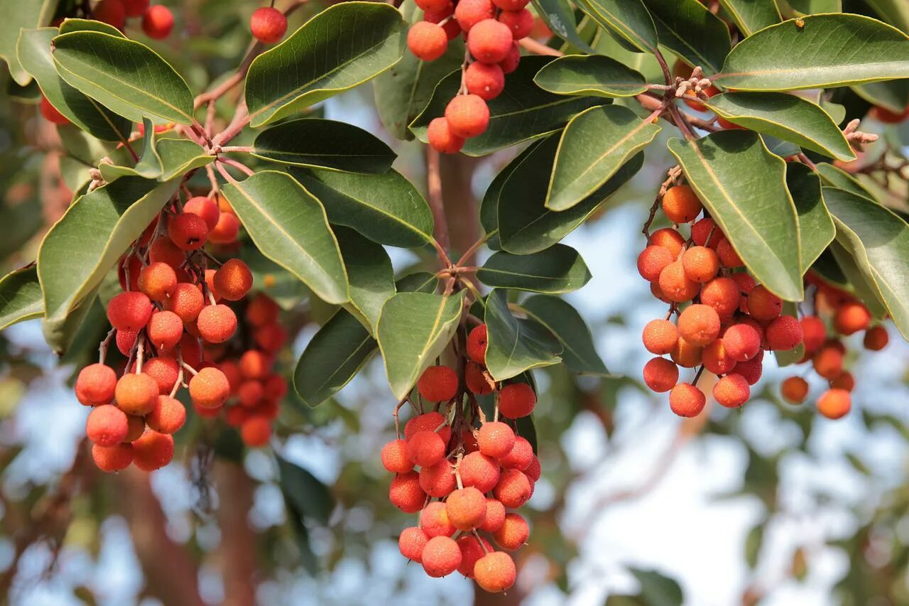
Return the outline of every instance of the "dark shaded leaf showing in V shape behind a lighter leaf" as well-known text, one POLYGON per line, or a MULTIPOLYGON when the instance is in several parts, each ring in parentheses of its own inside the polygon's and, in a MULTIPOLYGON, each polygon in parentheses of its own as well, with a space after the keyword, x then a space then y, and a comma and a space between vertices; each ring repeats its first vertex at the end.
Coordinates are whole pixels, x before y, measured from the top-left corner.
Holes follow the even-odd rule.
MULTIPOLYGON (((510 167, 511 172, 502 184, 495 211, 499 238, 504 250, 515 255, 529 255, 553 246, 581 225, 644 165, 644 154, 639 152, 593 194, 574 207, 556 212, 546 208, 544 202, 557 146, 558 138, 551 136, 526 155, 515 158, 515 166, 510 167)), ((486 212, 488 217, 493 211, 486 212)))

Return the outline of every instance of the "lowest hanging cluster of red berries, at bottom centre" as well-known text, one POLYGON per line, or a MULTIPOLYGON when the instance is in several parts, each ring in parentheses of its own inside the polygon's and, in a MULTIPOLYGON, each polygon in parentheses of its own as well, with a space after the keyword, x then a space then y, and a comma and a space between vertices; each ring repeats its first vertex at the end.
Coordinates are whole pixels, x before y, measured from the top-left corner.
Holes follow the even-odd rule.
POLYGON ((467 338, 463 379, 471 394, 495 393, 494 419, 485 418, 473 395, 464 408, 454 369, 430 367, 416 389, 422 400, 435 402, 435 410, 407 421, 404 439, 382 449, 382 464, 396 474, 389 490, 395 507, 420 514, 398 540, 405 558, 421 563, 431 577, 458 571, 485 591, 505 591, 517 574, 507 551, 530 536, 527 521, 507 510, 530 499, 541 470, 530 442, 498 417, 526 417, 536 395, 526 383, 496 385, 484 369, 485 348, 482 325, 467 338))

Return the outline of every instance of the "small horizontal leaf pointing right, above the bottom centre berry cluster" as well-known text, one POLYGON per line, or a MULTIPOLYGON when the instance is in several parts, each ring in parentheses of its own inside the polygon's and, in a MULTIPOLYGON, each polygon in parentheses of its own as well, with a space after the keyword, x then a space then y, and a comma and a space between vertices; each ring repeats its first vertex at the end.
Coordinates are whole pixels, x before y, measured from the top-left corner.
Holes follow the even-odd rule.
POLYGON ((564 293, 590 281, 590 270, 572 247, 556 244, 531 255, 497 252, 476 272, 486 286, 564 293))

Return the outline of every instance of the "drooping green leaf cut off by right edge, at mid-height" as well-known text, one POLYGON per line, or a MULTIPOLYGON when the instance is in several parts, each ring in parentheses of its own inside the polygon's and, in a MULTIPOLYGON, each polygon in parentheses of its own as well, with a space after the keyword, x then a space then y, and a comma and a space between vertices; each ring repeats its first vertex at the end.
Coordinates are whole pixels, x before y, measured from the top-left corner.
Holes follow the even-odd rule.
POLYGON ((836 240, 877 288, 903 338, 909 340, 909 226, 893 212, 843 189, 824 187, 836 240))

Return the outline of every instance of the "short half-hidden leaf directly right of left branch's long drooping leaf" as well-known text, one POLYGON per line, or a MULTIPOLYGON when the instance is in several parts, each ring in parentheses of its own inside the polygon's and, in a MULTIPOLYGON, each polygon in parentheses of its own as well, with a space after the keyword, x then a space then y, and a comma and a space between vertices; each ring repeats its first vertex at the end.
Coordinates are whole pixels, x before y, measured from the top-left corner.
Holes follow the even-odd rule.
MULTIPOLYGON (((381 244, 366 239, 348 227, 335 227, 350 281, 350 306, 365 318, 371 333, 379 322, 385 301, 395 294, 395 270, 381 244)), ((348 309, 351 310, 351 309, 348 309)))

